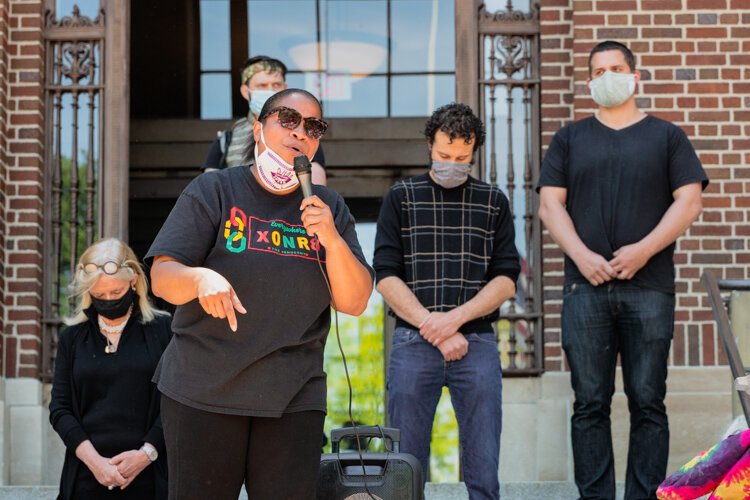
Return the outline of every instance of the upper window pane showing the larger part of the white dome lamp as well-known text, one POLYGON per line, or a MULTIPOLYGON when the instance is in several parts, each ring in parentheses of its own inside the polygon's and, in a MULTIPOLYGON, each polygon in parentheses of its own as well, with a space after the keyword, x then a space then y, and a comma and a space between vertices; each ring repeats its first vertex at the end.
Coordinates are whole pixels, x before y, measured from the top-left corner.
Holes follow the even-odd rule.
POLYGON ((385 0, 320 0, 323 69, 368 75, 388 68, 385 0))

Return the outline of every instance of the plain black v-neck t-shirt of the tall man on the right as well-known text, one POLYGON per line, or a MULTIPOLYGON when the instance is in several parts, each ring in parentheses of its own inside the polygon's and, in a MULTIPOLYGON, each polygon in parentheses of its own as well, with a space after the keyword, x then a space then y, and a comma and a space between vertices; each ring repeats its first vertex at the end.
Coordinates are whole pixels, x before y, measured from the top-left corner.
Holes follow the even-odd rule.
MULTIPOLYGON (((561 128, 542 162, 537 190, 567 189, 566 209, 578 236, 605 259, 636 243, 661 221, 687 184, 708 185, 685 133, 653 116, 621 130, 595 117, 561 128)), ((674 243, 654 255, 632 279, 645 288, 674 292, 674 243)), ((565 256, 565 282, 585 282, 565 256)))

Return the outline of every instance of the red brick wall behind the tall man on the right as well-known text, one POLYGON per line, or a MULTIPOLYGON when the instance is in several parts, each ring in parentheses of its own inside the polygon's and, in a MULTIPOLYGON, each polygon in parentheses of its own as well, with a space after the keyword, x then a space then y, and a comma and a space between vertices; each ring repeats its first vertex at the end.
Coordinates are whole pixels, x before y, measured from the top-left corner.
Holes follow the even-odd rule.
MULTIPOLYGON (((542 0, 544 147, 562 125, 595 110, 588 53, 607 39, 635 52, 639 106, 685 130, 711 179, 703 214, 675 254, 671 364, 723 364, 700 276, 750 278, 750 1, 542 0)), ((544 276, 546 367, 561 370, 562 253, 546 233, 544 276)))

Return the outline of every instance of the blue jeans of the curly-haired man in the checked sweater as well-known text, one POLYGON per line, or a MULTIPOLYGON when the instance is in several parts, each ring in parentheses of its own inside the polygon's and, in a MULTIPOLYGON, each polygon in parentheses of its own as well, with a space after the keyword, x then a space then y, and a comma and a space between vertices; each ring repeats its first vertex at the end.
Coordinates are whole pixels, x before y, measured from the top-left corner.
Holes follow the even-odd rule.
POLYGON ((401 429, 401 451, 417 457, 426 480, 435 409, 443 386, 448 386, 469 498, 497 499, 502 428, 500 355, 494 333, 472 333, 466 338, 466 356, 448 363, 419 332, 396 328, 388 367, 390 425, 401 429))

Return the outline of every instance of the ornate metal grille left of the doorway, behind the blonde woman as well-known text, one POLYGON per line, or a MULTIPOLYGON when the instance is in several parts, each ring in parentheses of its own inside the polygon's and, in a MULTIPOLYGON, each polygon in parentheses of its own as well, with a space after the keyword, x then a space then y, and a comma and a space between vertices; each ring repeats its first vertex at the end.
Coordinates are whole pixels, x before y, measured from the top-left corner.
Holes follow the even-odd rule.
POLYGON ((100 234, 104 12, 45 16, 45 224, 42 371, 51 380, 57 333, 80 253, 100 234))

